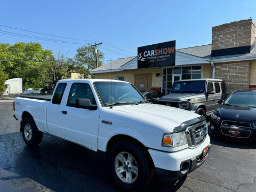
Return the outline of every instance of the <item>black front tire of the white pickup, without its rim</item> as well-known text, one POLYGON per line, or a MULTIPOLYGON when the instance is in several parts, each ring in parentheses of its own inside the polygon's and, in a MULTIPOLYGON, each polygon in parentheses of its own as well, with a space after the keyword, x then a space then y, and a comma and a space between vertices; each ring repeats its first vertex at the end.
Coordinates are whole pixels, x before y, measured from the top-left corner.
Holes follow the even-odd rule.
POLYGON ((119 187, 123 189, 144 190, 154 178, 154 166, 150 164, 145 151, 131 141, 118 141, 114 143, 109 151, 109 163, 113 180, 119 187), (115 170, 115 159, 119 153, 123 152, 131 154, 138 165, 138 176, 137 179, 132 183, 125 183, 119 179, 115 170))

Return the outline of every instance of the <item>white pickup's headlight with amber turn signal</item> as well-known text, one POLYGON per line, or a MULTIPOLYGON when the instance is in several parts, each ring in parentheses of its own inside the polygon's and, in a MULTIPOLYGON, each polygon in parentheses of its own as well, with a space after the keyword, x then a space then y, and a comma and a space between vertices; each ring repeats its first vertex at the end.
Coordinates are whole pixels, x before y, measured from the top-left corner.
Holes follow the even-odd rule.
POLYGON ((164 147, 179 147, 187 144, 187 137, 184 131, 179 133, 166 133, 163 136, 164 147))

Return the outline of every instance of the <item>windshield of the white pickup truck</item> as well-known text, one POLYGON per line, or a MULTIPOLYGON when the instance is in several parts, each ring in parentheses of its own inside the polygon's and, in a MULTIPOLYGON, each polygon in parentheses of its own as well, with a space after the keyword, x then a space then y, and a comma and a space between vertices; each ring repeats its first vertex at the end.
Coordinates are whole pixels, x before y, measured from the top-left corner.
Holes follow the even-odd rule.
POLYGON ((104 106, 132 103, 138 105, 138 103, 146 102, 130 83, 95 82, 94 85, 104 106))

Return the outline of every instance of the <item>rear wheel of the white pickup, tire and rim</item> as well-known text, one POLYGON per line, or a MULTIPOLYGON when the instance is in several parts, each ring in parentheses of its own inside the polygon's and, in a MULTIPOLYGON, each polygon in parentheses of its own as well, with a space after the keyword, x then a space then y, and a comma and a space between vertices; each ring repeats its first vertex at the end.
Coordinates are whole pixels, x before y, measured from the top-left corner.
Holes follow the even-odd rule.
POLYGON ((38 146, 42 141, 43 132, 39 131, 33 119, 26 117, 22 123, 22 137, 28 146, 38 146))

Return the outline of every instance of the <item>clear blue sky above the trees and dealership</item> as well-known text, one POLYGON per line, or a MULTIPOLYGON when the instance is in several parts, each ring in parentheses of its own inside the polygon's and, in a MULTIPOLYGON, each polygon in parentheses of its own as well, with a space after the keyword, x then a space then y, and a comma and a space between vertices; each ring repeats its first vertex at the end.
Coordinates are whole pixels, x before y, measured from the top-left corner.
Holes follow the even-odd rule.
POLYGON ((211 44, 213 26, 250 17, 256 21, 255 9, 256 1, 244 0, 1 1, 0 25, 69 39, 0 26, 0 43, 39 42, 73 58, 77 47, 102 42, 98 49, 107 62, 135 56, 139 46, 172 40, 176 49, 211 44))

